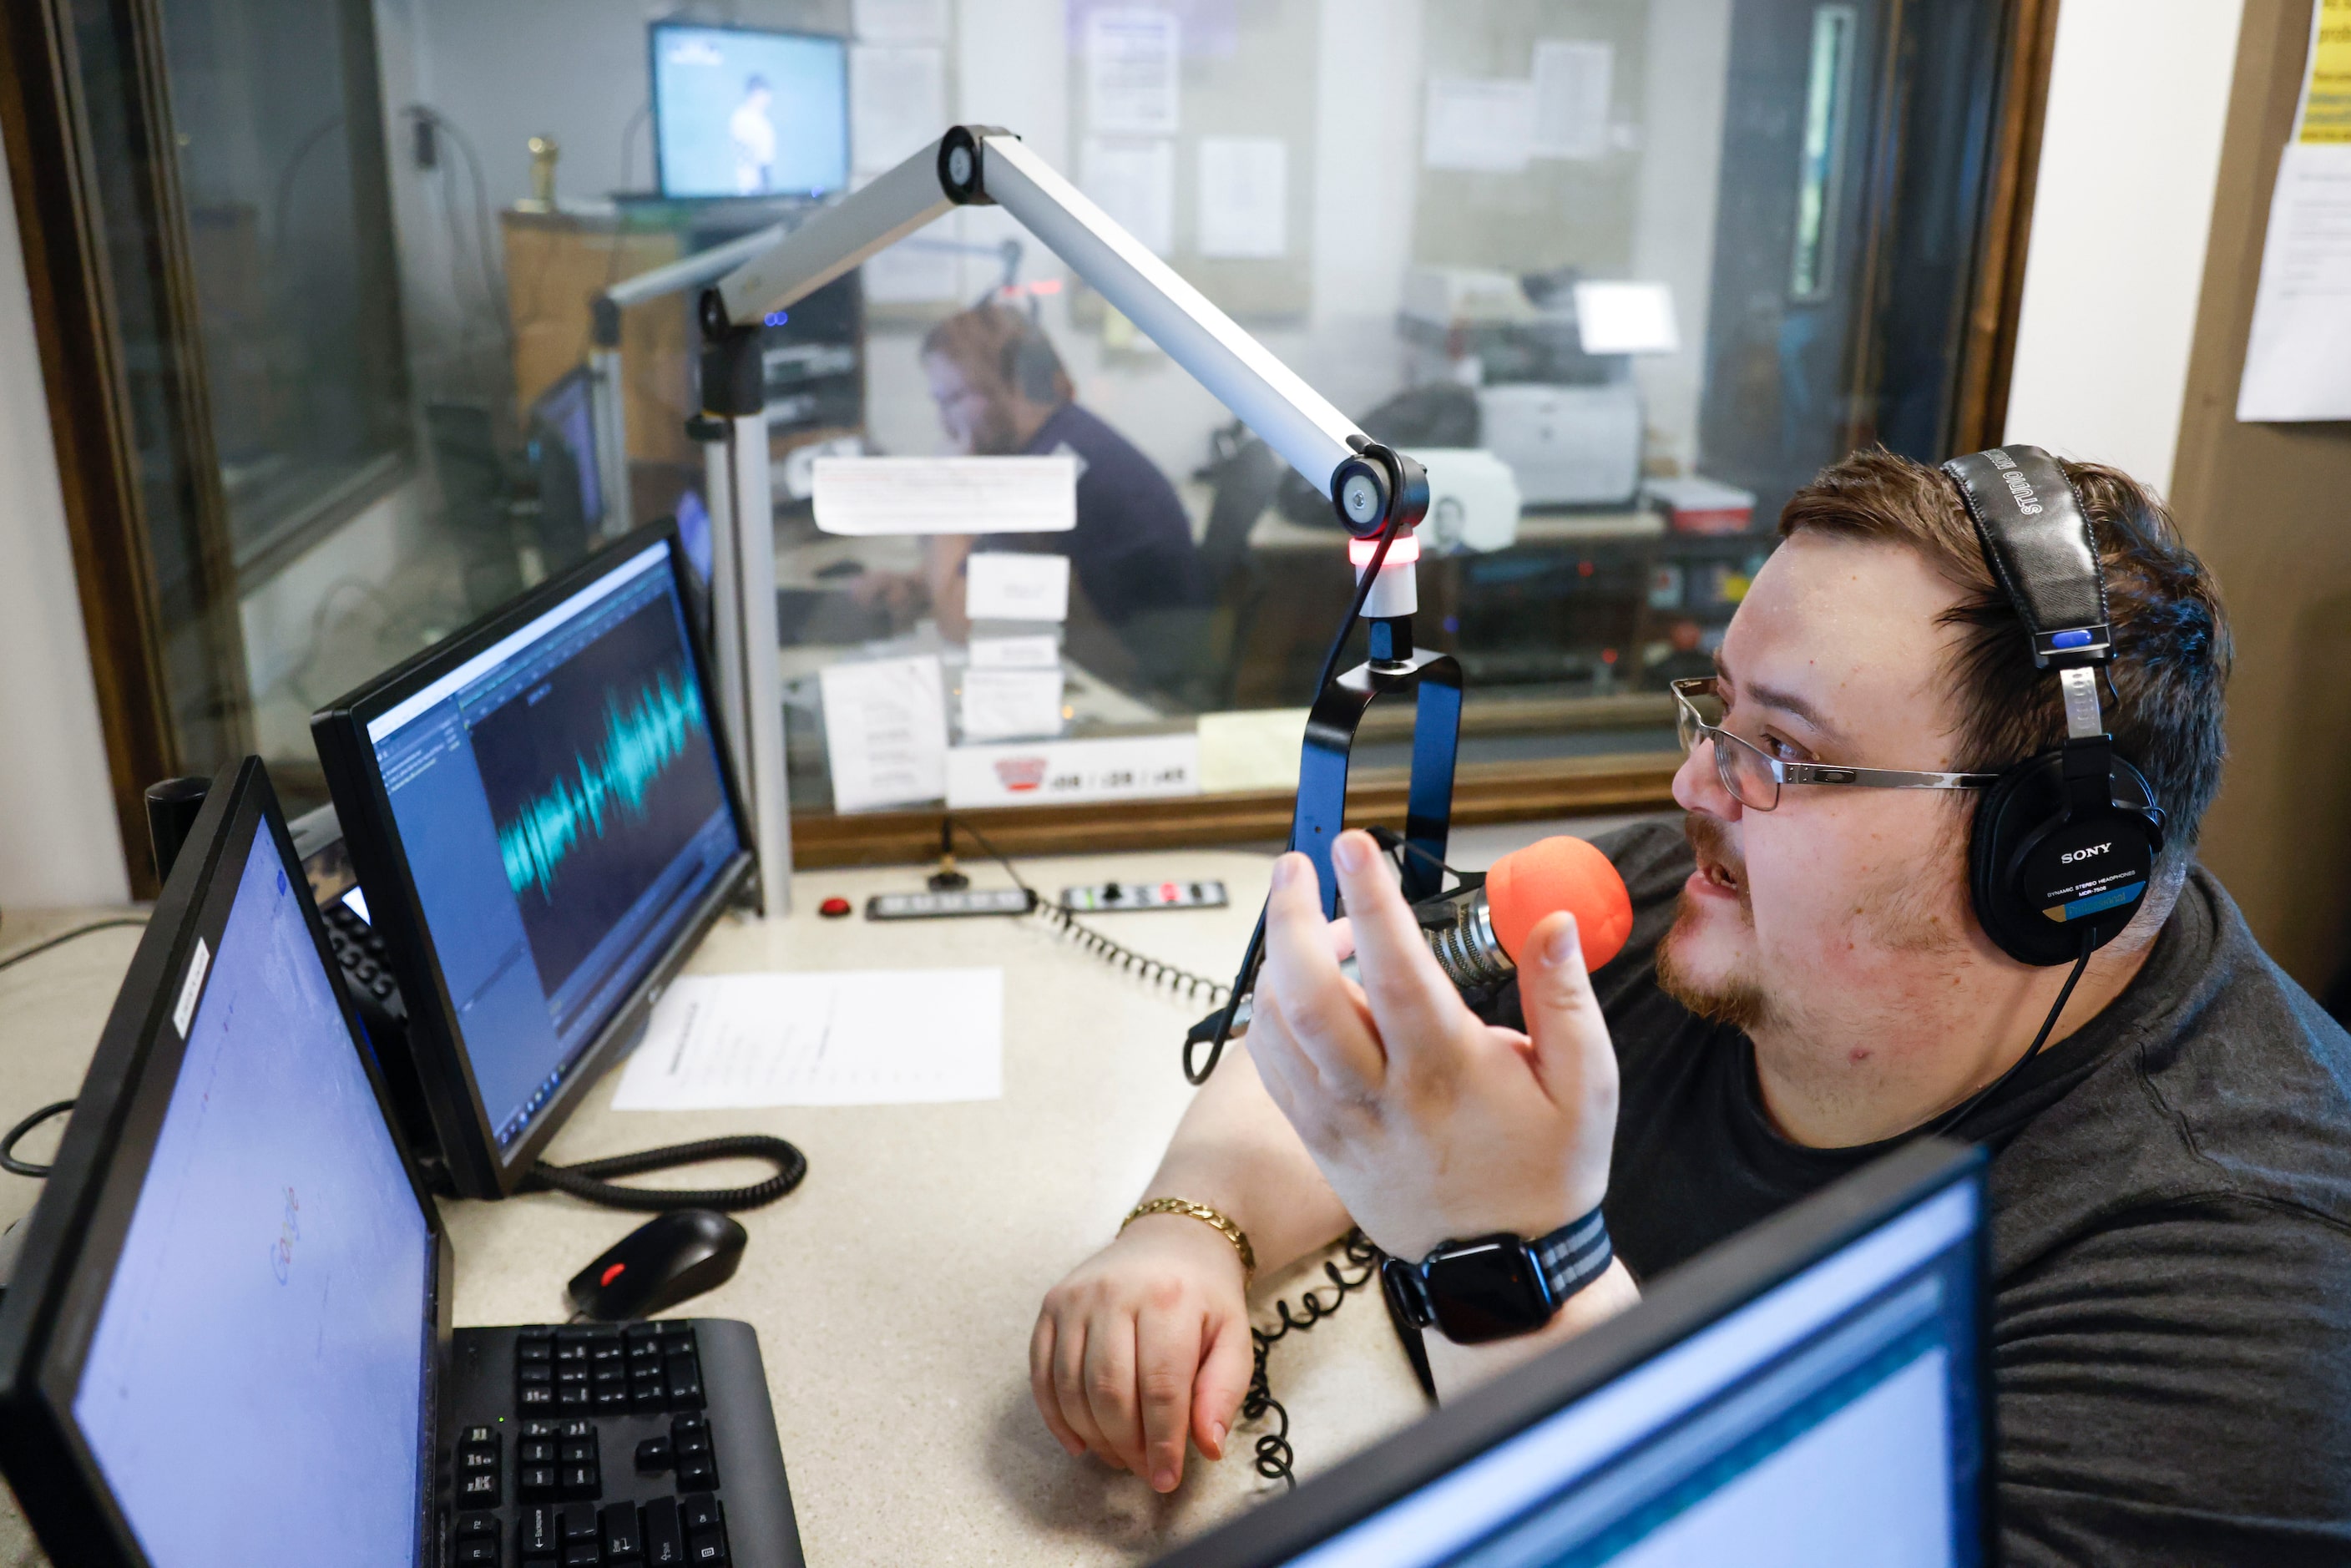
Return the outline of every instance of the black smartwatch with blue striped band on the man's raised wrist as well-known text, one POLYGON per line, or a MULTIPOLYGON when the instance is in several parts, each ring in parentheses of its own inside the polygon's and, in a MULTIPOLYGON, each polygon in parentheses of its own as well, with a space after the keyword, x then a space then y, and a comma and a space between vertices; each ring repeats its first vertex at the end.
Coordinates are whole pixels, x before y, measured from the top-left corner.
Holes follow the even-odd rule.
POLYGON ((1613 1258, 1608 1225, 1594 1208, 1533 1241, 1509 1232, 1439 1241, 1420 1262, 1385 1260, 1380 1274, 1408 1321, 1455 1345, 1486 1345, 1549 1324, 1613 1258))

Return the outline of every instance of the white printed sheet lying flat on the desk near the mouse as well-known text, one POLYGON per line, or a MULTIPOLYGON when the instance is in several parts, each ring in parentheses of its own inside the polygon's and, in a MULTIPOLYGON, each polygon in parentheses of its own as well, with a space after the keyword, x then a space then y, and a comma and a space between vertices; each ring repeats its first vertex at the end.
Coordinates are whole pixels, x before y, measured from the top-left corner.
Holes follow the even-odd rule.
POLYGON ((1002 969, 679 976, 614 1110, 1004 1098, 1002 969))

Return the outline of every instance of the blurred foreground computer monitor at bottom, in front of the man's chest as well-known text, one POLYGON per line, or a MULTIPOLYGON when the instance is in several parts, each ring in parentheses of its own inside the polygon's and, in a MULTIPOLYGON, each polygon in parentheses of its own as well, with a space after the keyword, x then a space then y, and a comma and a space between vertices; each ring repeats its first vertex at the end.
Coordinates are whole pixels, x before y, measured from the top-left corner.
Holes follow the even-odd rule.
POLYGON ((1984 1157, 1918 1143, 1161 1568, 1994 1556, 1984 1157))

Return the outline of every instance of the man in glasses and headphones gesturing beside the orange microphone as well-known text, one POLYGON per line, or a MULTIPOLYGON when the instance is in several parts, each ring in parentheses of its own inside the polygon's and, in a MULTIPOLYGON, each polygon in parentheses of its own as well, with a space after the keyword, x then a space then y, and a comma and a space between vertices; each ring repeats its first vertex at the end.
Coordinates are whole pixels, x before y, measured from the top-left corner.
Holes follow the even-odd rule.
POLYGON ((2210 578, 2132 480, 2029 447, 1850 456, 1780 534, 1679 682, 1681 830, 1603 842, 1636 919, 1596 976, 1554 914, 1481 1018, 1368 837, 1338 926, 1277 863, 1246 1051, 1046 1295, 1046 1425, 1161 1490, 1187 1436, 1220 1458, 1248 1253, 1526 1239, 1549 1305, 1432 1335, 1458 1387, 1944 1131, 1994 1150, 2005 1561, 2351 1559, 2351 1039, 2193 863, 2210 578))

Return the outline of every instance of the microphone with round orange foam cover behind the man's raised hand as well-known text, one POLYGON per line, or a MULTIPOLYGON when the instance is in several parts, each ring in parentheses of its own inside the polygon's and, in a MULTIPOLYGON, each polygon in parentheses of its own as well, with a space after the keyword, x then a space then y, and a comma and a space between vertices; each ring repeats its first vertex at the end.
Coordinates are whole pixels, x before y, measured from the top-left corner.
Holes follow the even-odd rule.
MULTIPOLYGON (((1526 938, 1554 910, 1575 914, 1575 938, 1585 950, 1585 969, 1599 969, 1625 950, 1632 936, 1632 893, 1625 877, 1585 839, 1554 835, 1514 849, 1486 870, 1483 886, 1455 889, 1441 898, 1413 905, 1420 936, 1427 938, 1436 966, 1460 990, 1500 985, 1519 971, 1526 938)), ((1357 978, 1352 957, 1340 973, 1357 978)), ((1248 997, 1232 1013, 1232 1027, 1248 1023, 1248 997)), ((1223 1009, 1208 1013, 1192 1034, 1206 1039, 1223 1009)))

